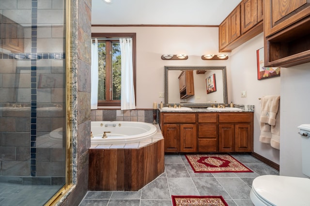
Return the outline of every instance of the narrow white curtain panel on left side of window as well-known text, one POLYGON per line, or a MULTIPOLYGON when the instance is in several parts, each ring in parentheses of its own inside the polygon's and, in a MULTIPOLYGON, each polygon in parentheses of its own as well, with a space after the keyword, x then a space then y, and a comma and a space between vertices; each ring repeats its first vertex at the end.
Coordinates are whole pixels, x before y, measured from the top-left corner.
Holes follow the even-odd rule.
POLYGON ((97 109, 98 102, 98 40, 92 40, 92 69, 91 69, 91 109, 97 109))

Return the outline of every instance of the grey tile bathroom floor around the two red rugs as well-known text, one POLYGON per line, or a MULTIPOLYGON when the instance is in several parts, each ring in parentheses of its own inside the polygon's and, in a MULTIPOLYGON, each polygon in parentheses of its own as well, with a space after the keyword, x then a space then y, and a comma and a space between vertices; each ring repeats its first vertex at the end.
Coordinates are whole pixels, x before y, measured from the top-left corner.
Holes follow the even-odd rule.
POLYGON ((253 173, 194 173, 184 155, 165 155, 165 172, 141 190, 88 191, 79 206, 171 206, 171 195, 222 195, 229 206, 253 206, 253 179, 279 172, 251 155, 232 156, 253 173))

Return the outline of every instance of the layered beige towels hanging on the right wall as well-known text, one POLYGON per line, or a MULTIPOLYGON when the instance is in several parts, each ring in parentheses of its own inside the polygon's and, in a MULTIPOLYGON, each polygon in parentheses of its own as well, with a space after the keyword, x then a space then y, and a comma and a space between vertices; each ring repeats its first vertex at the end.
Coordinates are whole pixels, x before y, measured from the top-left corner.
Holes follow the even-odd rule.
POLYGON ((279 126, 280 114, 277 115, 279 110, 279 95, 269 95, 262 98, 261 104, 261 117, 260 117, 260 142, 271 144, 272 147, 279 149, 279 126))

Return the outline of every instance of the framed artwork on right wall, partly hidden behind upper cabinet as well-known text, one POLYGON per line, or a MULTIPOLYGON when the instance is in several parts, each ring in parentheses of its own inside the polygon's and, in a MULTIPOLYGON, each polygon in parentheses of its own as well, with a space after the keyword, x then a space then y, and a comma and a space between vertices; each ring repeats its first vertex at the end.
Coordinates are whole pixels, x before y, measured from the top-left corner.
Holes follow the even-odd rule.
POLYGON ((263 48, 256 51, 257 55, 257 79, 267 79, 271 77, 280 76, 280 67, 264 67, 263 48))

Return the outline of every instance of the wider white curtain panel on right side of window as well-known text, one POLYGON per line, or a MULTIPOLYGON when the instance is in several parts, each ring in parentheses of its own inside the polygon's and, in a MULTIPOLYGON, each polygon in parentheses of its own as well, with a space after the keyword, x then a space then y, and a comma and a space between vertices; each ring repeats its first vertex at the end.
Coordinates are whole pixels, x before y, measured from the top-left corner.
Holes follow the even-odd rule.
POLYGON ((136 109, 132 62, 132 39, 120 38, 122 83, 121 110, 136 109))

